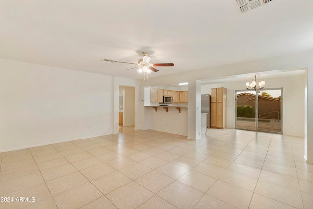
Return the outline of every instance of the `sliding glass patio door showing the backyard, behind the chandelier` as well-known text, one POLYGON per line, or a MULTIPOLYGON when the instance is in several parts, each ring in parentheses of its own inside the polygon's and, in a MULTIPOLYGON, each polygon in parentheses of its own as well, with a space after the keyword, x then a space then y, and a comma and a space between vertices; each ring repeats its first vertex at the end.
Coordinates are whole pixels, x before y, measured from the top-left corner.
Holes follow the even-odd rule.
POLYGON ((282 133, 281 101, 282 89, 236 90, 236 129, 282 133))

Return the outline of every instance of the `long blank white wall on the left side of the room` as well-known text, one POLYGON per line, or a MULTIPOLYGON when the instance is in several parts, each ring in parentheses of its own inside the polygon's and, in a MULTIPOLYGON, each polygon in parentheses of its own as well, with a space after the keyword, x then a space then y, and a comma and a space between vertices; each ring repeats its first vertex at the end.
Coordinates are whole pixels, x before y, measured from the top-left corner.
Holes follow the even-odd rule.
POLYGON ((0 152, 112 134, 112 76, 0 59, 0 152))

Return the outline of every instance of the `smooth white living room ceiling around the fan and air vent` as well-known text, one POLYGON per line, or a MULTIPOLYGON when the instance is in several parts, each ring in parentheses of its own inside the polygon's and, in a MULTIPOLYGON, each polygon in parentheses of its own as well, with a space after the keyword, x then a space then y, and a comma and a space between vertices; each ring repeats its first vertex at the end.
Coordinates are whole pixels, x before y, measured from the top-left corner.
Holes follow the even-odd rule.
POLYGON ((239 14, 233 0, 0 0, 0 57, 142 79, 313 50, 313 0, 272 0, 239 14))

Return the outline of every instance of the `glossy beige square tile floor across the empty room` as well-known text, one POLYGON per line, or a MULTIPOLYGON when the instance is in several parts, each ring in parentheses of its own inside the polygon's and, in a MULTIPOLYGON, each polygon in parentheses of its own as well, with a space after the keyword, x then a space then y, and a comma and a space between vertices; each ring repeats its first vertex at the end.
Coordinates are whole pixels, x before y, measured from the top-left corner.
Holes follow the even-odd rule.
POLYGON ((207 135, 194 141, 128 127, 0 153, 0 208, 313 208, 303 138, 233 129, 207 135))

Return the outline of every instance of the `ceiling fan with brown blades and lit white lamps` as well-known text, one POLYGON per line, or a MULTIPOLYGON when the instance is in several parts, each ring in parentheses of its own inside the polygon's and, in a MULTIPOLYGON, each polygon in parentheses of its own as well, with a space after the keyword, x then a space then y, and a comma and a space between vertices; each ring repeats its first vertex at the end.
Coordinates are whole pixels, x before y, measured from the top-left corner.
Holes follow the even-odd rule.
MULTIPOLYGON (((173 63, 152 63, 151 62, 151 57, 147 56, 148 52, 142 52, 142 55, 143 55, 143 57, 138 60, 138 63, 121 62, 121 61, 116 61, 116 60, 112 60, 112 59, 108 59, 108 58, 105 58, 102 61, 137 65, 134 68, 139 68, 137 71, 140 74, 142 72, 144 73, 144 75, 145 75, 144 80, 146 80, 146 78, 148 79, 148 74, 149 73, 151 73, 151 72, 158 72, 159 71, 156 68, 154 68, 154 66, 174 66, 173 63)), ((134 68, 129 68, 129 69, 126 69, 126 70, 130 70, 130 69, 134 69, 134 68)))

